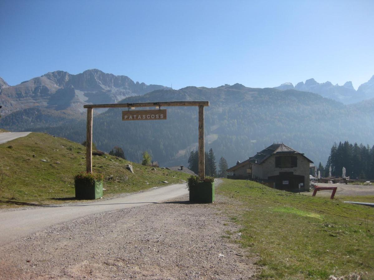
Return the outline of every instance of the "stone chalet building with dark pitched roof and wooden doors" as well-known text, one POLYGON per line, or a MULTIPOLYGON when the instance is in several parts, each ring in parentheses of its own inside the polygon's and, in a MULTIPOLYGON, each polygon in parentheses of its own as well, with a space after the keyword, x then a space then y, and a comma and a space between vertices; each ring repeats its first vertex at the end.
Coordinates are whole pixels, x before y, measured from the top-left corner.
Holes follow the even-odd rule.
POLYGON ((229 169, 232 179, 249 179, 266 182, 280 190, 309 190, 310 159, 285 144, 272 144, 256 155, 229 169))

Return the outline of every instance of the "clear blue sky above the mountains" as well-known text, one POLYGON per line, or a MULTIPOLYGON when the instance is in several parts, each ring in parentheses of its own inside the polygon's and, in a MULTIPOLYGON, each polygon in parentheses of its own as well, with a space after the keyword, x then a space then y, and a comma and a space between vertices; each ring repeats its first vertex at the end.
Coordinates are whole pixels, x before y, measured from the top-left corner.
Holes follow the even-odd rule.
POLYGON ((97 68, 173 88, 374 75, 374 1, 0 1, 0 77, 97 68))

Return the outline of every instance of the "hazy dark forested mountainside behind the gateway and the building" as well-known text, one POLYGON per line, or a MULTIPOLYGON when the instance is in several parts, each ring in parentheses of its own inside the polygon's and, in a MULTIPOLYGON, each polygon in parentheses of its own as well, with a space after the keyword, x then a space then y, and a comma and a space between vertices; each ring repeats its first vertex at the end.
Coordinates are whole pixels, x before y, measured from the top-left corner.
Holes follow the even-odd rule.
MULTIPOLYGON (((330 148, 341 139, 372 143, 373 106, 343 105, 318 94, 276 88, 247 88, 240 84, 218 88, 186 87, 157 90, 128 97, 122 103, 208 100, 205 108, 206 151, 223 156, 229 166, 243 161, 274 141, 292 147, 314 162, 327 162, 330 148)), ((372 104, 372 103, 371 103, 372 104)), ((152 108, 154 109, 154 108, 152 108)), ((163 108, 165 109, 165 108, 163 108)), ((123 122, 122 109, 109 109, 93 119, 93 141, 98 149, 122 147, 126 158, 140 162, 144 150, 162 166, 186 165, 197 148, 197 108, 168 109, 168 119, 123 122)), ((127 109, 124 109, 127 110, 127 109)), ((95 110, 94 110, 95 112, 95 110)), ((11 115, 10 115, 11 116, 11 115)), ((82 142, 85 118, 54 127, 31 124, 24 118, 0 120, 8 130, 37 130, 82 142)))

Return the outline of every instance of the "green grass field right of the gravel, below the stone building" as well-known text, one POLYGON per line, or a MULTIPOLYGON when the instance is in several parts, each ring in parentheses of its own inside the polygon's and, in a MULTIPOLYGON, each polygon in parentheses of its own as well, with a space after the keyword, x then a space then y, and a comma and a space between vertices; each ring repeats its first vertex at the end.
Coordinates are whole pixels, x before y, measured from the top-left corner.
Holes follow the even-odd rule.
POLYGON ((247 256, 259 256, 259 279, 328 279, 355 272, 374 279, 374 208, 243 180, 224 179, 216 193, 239 200, 239 206, 228 207, 237 213, 231 218, 241 227, 238 242, 247 256))

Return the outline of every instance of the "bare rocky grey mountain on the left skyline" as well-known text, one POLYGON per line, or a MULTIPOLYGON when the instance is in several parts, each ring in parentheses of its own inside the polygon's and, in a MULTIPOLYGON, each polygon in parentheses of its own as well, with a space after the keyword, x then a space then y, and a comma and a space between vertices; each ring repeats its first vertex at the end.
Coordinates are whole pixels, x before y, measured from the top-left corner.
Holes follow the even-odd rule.
POLYGON ((167 88, 135 83, 127 76, 107 74, 98 69, 77 75, 64 71, 49 72, 14 86, 0 78, 1 114, 35 107, 81 112, 84 104, 117 103, 129 96, 167 88))

